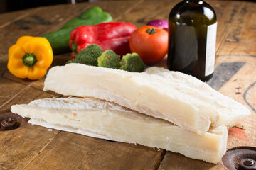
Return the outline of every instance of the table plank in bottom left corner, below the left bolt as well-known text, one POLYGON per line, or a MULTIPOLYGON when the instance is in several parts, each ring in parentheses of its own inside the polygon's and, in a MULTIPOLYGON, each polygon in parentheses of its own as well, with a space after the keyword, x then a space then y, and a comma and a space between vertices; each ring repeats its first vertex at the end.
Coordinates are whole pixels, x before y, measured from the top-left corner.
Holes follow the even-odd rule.
POLYGON ((50 132, 47 128, 31 124, 16 130, 1 131, 1 169, 23 169, 52 142, 58 132, 58 130, 50 132))

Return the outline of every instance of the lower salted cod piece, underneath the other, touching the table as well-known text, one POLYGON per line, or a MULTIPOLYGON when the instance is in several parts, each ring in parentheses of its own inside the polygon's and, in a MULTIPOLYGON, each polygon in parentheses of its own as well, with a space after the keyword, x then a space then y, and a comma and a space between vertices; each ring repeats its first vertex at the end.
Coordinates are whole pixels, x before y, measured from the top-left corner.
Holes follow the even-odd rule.
POLYGON ((198 135, 166 120, 95 98, 39 99, 11 106, 11 111, 47 128, 162 148, 215 164, 225 154, 228 137, 225 126, 198 135))

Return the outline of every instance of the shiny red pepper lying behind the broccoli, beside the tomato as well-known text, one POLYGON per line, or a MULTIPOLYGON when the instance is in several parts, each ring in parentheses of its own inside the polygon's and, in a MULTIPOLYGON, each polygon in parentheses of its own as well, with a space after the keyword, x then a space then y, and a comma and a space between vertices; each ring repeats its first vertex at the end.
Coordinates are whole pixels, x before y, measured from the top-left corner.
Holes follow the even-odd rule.
POLYGON ((117 55, 126 55, 131 52, 129 38, 136 29, 136 26, 131 23, 114 22, 100 23, 94 26, 79 26, 70 33, 69 46, 72 48, 73 42, 75 42, 76 50, 79 52, 87 45, 97 44, 104 51, 113 50, 117 55))

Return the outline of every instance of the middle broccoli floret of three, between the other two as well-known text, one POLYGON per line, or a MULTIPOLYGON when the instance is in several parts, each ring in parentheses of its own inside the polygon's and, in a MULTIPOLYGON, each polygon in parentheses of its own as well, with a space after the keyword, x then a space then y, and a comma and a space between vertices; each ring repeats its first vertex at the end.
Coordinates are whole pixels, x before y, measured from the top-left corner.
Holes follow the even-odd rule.
POLYGON ((97 58, 97 66, 107 67, 113 69, 119 69, 120 56, 114 53, 112 50, 105 50, 105 52, 97 58))

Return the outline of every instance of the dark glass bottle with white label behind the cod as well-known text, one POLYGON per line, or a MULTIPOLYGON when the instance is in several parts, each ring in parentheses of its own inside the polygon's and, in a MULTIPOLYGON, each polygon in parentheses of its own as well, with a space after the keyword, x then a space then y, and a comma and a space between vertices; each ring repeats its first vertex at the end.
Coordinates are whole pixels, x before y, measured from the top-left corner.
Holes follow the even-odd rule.
POLYGON ((169 70, 191 74, 202 81, 213 77, 217 17, 204 1, 184 0, 169 15, 169 70))

